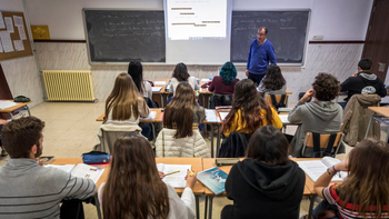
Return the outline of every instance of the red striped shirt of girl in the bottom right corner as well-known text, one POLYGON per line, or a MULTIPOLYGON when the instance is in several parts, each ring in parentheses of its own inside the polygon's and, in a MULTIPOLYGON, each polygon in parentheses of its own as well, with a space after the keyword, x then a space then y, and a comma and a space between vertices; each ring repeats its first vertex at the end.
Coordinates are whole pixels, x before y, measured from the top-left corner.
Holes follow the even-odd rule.
MULTIPOLYGON (((345 206, 345 209, 342 209, 341 206, 343 201, 340 200, 336 188, 337 188, 337 185, 326 187, 322 190, 322 196, 330 205, 333 205, 338 208, 338 211, 339 211, 338 217, 340 219, 362 219, 363 217, 358 213, 359 205, 357 205, 356 210, 353 210, 352 208, 355 205, 349 202, 345 206)), ((373 211, 376 210, 376 208, 377 208, 376 206, 370 207, 370 209, 372 209, 373 211)), ((376 218, 376 213, 366 212, 366 218, 376 218)), ((381 212, 381 218, 389 218, 387 205, 383 206, 383 212, 381 212)))

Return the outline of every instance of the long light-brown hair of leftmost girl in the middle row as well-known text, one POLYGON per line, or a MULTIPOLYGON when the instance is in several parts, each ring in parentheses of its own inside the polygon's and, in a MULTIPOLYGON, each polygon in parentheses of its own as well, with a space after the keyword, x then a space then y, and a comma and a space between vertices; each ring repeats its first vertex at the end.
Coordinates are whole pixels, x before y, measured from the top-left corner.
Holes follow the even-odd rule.
POLYGON ((114 80, 111 93, 106 100, 106 117, 112 110, 112 120, 128 120, 133 117, 138 118, 140 112, 138 108, 139 101, 144 99, 139 93, 136 84, 128 73, 120 73, 114 80))

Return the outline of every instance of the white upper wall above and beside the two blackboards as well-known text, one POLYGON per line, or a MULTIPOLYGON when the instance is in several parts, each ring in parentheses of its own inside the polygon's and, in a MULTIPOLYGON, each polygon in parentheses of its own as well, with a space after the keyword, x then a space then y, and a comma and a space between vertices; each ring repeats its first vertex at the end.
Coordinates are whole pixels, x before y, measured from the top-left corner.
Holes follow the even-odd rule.
MULTIPOLYGON (((27 0, 27 6, 31 24, 48 24, 51 39, 84 40, 82 8, 163 10, 162 2, 27 0)), ((373 0, 233 0, 232 10, 311 9, 309 40, 318 34, 325 36, 325 40, 365 40, 372 2, 373 0)))

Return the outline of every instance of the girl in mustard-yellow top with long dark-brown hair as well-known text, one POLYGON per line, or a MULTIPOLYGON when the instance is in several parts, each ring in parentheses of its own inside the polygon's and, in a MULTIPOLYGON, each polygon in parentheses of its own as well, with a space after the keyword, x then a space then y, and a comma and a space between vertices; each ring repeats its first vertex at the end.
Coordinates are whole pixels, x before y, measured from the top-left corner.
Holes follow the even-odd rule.
POLYGON ((235 86, 232 97, 232 108, 221 126, 226 137, 232 131, 252 133, 258 128, 269 125, 282 128, 277 111, 263 100, 252 80, 239 81, 235 86))

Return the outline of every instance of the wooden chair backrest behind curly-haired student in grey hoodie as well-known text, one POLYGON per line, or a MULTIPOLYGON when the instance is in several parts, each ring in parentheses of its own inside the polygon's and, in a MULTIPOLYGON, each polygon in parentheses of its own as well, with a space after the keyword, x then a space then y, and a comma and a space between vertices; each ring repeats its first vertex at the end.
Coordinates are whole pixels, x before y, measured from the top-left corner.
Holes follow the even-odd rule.
POLYGON ((307 131, 303 139, 301 156, 306 157, 307 148, 313 148, 312 156, 315 156, 315 152, 323 151, 322 149, 325 149, 327 155, 330 153, 330 156, 335 157, 338 153, 342 140, 343 133, 340 131, 337 133, 315 133, 307 131))

